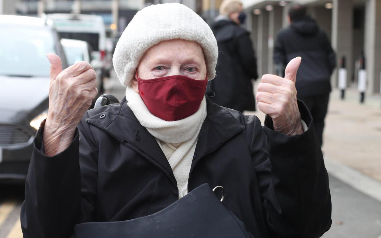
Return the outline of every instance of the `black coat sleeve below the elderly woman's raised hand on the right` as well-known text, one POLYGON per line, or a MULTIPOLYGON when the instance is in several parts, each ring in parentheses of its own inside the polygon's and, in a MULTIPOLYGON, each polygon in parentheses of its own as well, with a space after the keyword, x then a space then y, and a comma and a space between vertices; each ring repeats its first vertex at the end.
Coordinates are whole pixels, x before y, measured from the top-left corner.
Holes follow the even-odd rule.
POLYGON ((251 156, 271 237, 320 237, 331 225, 328 174, 311 115, 298 101, 308 130, 285 136, 272 130, 266 118, 252 128, 251 156), (265 148, 265 149, 263 149, 265 148))

